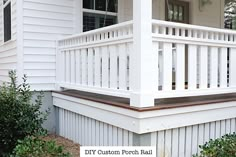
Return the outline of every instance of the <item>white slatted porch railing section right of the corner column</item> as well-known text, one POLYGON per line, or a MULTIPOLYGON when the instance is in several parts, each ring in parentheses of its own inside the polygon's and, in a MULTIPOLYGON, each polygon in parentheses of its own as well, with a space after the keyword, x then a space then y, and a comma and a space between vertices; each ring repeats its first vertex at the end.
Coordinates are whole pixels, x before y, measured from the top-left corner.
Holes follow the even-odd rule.
POLYGON ((236 92, 235 31, 153 20, 153 46, 156 98, 236 92))

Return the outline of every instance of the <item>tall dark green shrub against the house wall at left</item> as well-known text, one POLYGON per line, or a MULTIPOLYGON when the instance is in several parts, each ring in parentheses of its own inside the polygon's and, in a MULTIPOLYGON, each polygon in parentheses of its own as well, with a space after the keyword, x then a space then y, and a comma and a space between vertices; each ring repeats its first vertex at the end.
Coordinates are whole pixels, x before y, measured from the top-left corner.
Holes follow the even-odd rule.
POLYGON ((32 102, 32 92, 26 83, 17 85, 14 71, 9 72, 10 83, 0 86, 0 156, 7 156, 16 146, 17 140, 45 130, 42 128, 48 111, 41 112, 43 94, 32 102))

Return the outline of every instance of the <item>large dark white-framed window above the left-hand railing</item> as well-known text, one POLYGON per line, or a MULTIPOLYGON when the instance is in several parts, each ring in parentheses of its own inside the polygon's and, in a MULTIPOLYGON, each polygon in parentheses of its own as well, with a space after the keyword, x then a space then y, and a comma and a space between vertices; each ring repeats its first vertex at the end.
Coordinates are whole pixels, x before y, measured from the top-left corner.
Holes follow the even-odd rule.
POLYGON ((117 23, 117 0, 83 0, 83 31, 117 23))

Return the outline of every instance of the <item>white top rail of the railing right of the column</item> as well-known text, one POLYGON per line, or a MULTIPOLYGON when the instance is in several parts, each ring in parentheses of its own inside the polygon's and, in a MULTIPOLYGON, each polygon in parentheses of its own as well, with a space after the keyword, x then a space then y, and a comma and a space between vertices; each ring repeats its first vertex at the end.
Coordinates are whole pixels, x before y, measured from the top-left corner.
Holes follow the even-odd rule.
POLYGON ((220 29, 220 28, 207 27, 207 26, 197 26, 197 25, 183 24, 183 23, 163 21, 163 20, 152 20, 152 23, 156 25, 161 25, 161 26, 171 26, 175 28, 196 29, 196 30, 202 30, 202 31, 227 33, 227 34, 236 35, 236 31, 228 30, 228 29, 220 29))

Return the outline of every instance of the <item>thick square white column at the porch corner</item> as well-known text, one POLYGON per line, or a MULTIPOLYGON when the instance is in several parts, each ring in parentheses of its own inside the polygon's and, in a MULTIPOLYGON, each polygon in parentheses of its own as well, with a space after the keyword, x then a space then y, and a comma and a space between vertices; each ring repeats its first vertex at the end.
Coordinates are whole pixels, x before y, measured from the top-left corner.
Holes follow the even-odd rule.
MULTIPOLYGON (((154 105, 154 56, 152 51, 152 0, 133 0, 134 45, 131 59, 130 105, 154 105)), ((157 62, 157 61, 156 61, 157 62)))

